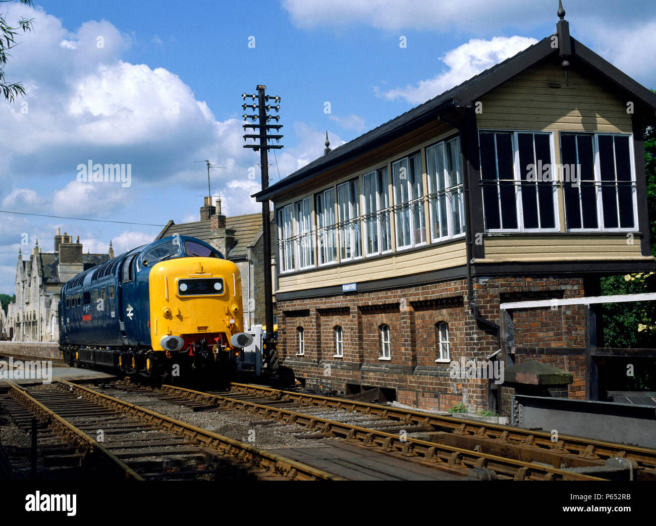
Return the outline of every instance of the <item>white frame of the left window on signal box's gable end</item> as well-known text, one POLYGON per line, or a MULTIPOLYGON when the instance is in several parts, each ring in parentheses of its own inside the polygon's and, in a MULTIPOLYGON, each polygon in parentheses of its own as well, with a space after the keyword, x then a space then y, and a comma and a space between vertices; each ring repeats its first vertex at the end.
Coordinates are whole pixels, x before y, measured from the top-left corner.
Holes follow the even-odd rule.
MULTIPOLYGON (((523 203, 522 203, 522 170, 520 167, 520 148, 519 148, 519 139, 518 135, 520 133, 531 133, 531 134, 541 134, 549 136, 549 150, 550 150, 550 163, 552 167, 556 166, 556 157, 555 157, 555 146, 554 146, 554 133, 552 131, 543 131, 543 130, 498 130, 498 129, 479 129, 478 130, 478 141, 479 141, 479 155, 480 155, 480 138, 481 133, 510 133, 511 134, 511 143, 512 143, 512 155, 513 155, 513 183, 515 188, 515 210, 517 218, 517 228, 487 228, 485 224, 485 232, 489 233, 504 233, 504 232, 560 232, 560 214, 558 211, 558 183, 555 180, 557 178, 554 171, 551 172, 552 177, 552 203, 554 206, 554 227, 553 228, 524 228, 524 215, 523 215, 523 203)), ((499 203, 499 220, 502 221, 501 214, 501 184, 499 184, 499 165, 497 162, 497 136, 495 135, 495 169, 497 170, 497 201, 499 203)), ((533 145, 533 155, 535 159, 535 144, 533 145)), ((480 167, 482 169, 482 158, 479 159, 480 167)), ((482 179, 481 172, 481 180, 482 179)), ((505 179, 506 181, 510 179, 505 179)), ((482 190, 481 190, 482 192, 482 190)), ((539 206, 539 205, 538 205, 539 206)), ((483 220, 485 220, 485 199, 483 199, 483 220)), ((539 208, 538 208, 538 220, 539 220, 539 208)))

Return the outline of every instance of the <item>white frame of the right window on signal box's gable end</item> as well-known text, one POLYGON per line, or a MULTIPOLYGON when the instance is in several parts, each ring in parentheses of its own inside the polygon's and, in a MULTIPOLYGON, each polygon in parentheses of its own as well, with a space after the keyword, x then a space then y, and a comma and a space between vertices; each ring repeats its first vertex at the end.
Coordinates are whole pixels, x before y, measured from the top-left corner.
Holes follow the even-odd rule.
MULTIPOLYGON (((567 232, 638 232, 638 194, 637 194, 637 185, 636 185, 636 159, 634 154, 634 144, 633 144, 633 134, 632 133, 597 133, 597 132, 577 132, 577 131, 561 131, 560 136, 563 135, 587 135, 592 136, 592 155, 594 155, 594 184, 596 187, 595 198, 596 198, 596 211, 597 211, 597 228, 569 228, 567 225, 567 209, 565 208, 565 199, 563 199, 563 210, 565 216, 565 225, 567 227, 567 232), (605 136, 623 136, 628 137, 628 157, 631 169, 631 199, 633 201, 633 219, 634 226, 632 227, 620 227, 617 228, 606 228, 604 226, 604 203, 602 201, 602 163, 601 156, 599 154, 599 137, 605 136)), ((578 145, 578 142, 576 143, 578 145)), ((562 141, 561 141, 561 151, 560 156, 562 159, 562 141)), ((577 165, 579 164, 579 149, 576 148, 576 159, 577 165)), ((615 158, 615 140, 613 140, 613 160, 615 162, 615 180, 617 181, 617 159, 615 158)), ((562 178, 562 176, 561 176, 562 178)), ((565 184, 571 184, 564 182, 565 184)), ((617 190, 617 185, 615 186, 617 190)), ((617 196, 617 191, 615 192, 617 196)), ((619 198, 617 199, 617 213, 619 219, 619 198)), ((579 214, 581 214, 581 225, 583 226, 583 207, 581 206, 581 186, 579 181, 579 214)))

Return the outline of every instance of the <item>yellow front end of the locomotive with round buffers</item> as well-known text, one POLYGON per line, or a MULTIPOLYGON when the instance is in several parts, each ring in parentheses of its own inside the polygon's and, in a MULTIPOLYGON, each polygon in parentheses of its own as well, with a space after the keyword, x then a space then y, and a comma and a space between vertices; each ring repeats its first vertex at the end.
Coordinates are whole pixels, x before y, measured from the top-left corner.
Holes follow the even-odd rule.
POLYGON ((169 259, 153 266, 148 282, 152 354, 146 369, 166 362, 196 372, 216 371, 217 365, 226 369, 238 348, 252 342, 243 332, 241 277, 233 262, 169 259))

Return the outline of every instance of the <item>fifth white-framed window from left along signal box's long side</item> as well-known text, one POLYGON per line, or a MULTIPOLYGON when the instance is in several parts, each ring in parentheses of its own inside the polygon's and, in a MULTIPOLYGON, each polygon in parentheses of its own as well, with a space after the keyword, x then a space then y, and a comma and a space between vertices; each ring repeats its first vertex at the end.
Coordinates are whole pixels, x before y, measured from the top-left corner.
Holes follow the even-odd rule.
POLYGON ((362 230, 364 232, 364 246, 362 249, 365 257, 392 252, 392 214, 390 210, 389 182, 387 167, 375 169, 362 175, 362 230), (365 195, 365 178, 369 178, 369 180, 374 182, 374 184, 369 187, 374 195, 365 195), (381 179, 380 182, 379 178, 381 179), (387 182, 387 184, 384 185, 384 188, 380 188, 380 186, 382 186, 382 179, 387 182), (372 203, 372 201, 374 202, 372 203), (372 205, 371 210, 369 210, 369 205, 372 205), (374 229, 376 230, 376 232, 371 233, 376 237, 378 245, 377 251, 369 251, 370 229, 372 231, 374 229), (386 239, 388 248, 386 250, 381 250, 384 239, 386 239))

